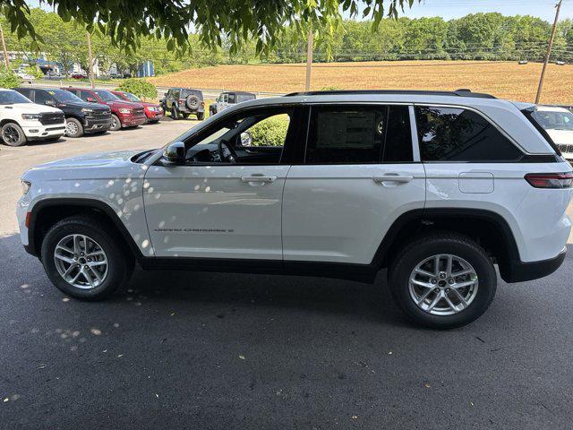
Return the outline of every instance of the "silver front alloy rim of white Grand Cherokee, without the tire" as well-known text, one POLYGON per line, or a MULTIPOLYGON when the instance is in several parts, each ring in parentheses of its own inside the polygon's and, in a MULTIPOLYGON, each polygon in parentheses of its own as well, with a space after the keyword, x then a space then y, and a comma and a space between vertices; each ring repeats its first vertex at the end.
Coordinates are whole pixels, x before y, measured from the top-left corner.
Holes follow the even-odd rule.
POLYGON ((107 255, 89 236, 65 236, 56 245, 54 262, 60 276, 76 288, 96 288, 107 277, 107 255))

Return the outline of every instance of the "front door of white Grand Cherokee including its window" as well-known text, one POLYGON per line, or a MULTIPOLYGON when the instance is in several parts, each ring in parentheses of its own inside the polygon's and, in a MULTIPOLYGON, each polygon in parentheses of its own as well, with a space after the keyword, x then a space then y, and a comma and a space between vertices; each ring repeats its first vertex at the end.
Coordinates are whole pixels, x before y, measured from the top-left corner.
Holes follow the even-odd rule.
POLYGON ((145 213, 156 256, 282 260, 289 165, 281 159, 291 115, 266 109, 221 118, 185 142, 184 166, 159 160, 148 169, 145 213))

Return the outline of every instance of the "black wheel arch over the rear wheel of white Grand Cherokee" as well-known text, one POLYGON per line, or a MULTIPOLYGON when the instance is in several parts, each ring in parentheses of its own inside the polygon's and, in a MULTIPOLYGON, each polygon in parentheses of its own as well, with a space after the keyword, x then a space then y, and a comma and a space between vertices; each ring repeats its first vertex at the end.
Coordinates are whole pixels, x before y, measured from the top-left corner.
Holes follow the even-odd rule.
POLYGON ((372 265, 389 267, 407 241, 437 229, 471 237, 492 256, 505 280, 510 262, 519 262, 519 251, 509 223, 494 211, 466 208, 432 208, 407 211, 394 221, 381 241, 372 265))

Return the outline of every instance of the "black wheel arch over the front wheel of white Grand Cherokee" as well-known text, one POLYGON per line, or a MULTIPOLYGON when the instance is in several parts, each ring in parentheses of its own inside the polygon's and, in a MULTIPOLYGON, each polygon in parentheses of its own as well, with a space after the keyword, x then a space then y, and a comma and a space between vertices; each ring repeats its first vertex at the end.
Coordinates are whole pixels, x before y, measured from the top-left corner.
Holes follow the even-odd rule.
POLYGON ((56 222, 73 215, 88 215, 105 222, 113 229, 126 251, 131 252, 134 258, 141 257, 141 250, 111 206, 95 199, 76 198, 46 199, 33 206, 28 224, 30 254, 39 256, 42 240, 47 230, 56 222))

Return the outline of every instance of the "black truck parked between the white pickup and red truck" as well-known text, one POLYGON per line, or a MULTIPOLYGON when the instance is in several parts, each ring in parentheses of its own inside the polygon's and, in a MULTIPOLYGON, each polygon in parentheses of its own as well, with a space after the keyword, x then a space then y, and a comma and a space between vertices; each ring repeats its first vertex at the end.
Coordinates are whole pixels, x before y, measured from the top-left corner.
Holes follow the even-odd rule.
POLYGON ((52 88, 15 88, 22 96, 38 105, 64 111, 65 135, 81 137, 83 133, 100 133, 111 126, 111 110, 106 105, 88 103, 70 91, 52 88))

